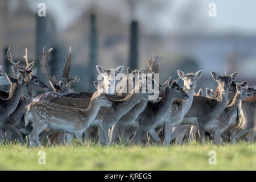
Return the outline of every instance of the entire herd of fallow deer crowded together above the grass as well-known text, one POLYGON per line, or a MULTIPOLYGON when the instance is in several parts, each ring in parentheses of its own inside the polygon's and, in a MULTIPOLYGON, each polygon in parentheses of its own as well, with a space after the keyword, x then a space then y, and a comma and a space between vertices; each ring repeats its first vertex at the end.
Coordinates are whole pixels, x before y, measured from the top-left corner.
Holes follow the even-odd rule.
MULTIPOLYGON (((238 139, 253 142, 256 135, 256 86, 247 81, 236 83, 238 72, 211 76, 218 86, 195 92, 203 71, 184 73, 178 70, 176 80, 168 78, 160 84, 157 75, 162 56, 148 60, 142 70, 127 69, 118 79, 123 66, 104 69, 96 65, 101 81, 94 81, 94 93, 76 93, 79 78, 69 78, 72 51, 63 69, 65 82, 48 72, 48 51, 40 58, 42 73, 49 79, 53 92, 35 97, 35 91, 48 86, 35 75, 25 51, 26 68, 7 51, 15 77, 0 71, 0 85, 10 84, 10 90, 0 90, 0 142, 19 142, 30 146, 71 144, 80 142, 110 144, 127 141, 135 144, 181 144, 192 140, 213 140, 215 144, 236 143, 238 139), (117 82, 120 80, 119 82, 117 82), (183 80, 184 85, 179 85, 183 80), (152 91, 152 85, 154 90, 152 91), (165 86, 165 88, 164 88, 165 86), (129 90, 127 92, 127 90, 129 90), (151 96, 158 93, 157 98, 151 96), (26 138, 26 139, 25 139, 26 138)), ((0 66, 1 69, 2 66, 0 66)))

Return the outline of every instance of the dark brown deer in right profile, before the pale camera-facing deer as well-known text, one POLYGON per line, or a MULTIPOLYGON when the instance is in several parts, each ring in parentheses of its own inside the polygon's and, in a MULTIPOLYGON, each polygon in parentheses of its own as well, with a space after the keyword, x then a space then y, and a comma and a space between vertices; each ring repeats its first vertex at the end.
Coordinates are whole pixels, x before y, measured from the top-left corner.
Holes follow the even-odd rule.
POLYGON ((141 114, 135 119, 135 122, 138 123, 138 129, 135 132, 131 142, 138 143, 141 140, 142 134, 144 131, 148 131, 152 139, 156 143, 161 143, 158 135, 156 134, 155 127, 158 123, 165 121, 166 113, 170 109, 172 102, 175 98, 181 98, 187 100, 189 98, 188 94, 184 92, 183 89, 177 84, 179 79, 172 81, 172 78, 169 78, 166 89, 161 100, 158 102, 148 102, 145 109, 141 114))

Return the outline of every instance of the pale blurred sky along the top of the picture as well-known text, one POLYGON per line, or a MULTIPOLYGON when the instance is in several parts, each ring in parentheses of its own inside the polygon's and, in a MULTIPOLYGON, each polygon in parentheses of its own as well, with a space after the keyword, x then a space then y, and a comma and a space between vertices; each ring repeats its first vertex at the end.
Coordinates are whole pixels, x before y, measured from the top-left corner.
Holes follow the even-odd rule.
MULTIPOLYGON (((129 21, 134 16, 148 34, 168 35, 180 31, 209 33, 255 34, 255 0, 137 0, 130 14, 127 1, 132 0, 25 0, 30 9, 38 11, 38 3, 46 3, 47 13, 56 20, 57 30, 64 30, 94 2, 98 8, 129 21), (217 16, 209 17, 209 3, 216 3, 217 16)), ((16 9, 20 1, 9 0, 16 9)))

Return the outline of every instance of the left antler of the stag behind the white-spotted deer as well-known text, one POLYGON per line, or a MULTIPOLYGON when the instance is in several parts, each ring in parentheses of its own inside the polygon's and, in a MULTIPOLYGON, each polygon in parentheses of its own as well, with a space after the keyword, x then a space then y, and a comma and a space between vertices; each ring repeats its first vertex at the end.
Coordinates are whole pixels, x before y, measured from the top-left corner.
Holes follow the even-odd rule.
POLYGON ((46 47, 43 48, 43 53, 42 53, 42 57, 40 59, 40 67, 41 67, 41 70, 42 70, 42 74, 46 75, 49 80, 55 82, 56 84, 59 83, 58 80, 55 79, 55 77, 51 77, 48 73, 48 63, 47 63, 47 60, 48 60, 48 57, 50 55, 50 53, 52 52, 52 48, 50 48, 47 52, 45 52, 44 50, 46 49, 46 47))

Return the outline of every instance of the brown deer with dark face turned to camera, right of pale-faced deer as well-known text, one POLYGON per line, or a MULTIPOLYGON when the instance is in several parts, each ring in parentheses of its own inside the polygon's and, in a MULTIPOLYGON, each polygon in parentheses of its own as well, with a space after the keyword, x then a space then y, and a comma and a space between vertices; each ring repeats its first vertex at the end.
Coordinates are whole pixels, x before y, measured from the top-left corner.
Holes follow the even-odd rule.
POLYGON ((228 103, 230 84, 237 78, 238 72, 230 76, 219 76, 211 72, 213 80, 218 82, 218 88, 213 98, 194 96, 192 105, 183 119, 182 124, 197 126, 201 142, 205 142, 205 127, 212 125, 216 117, 224 111, 228 103))

